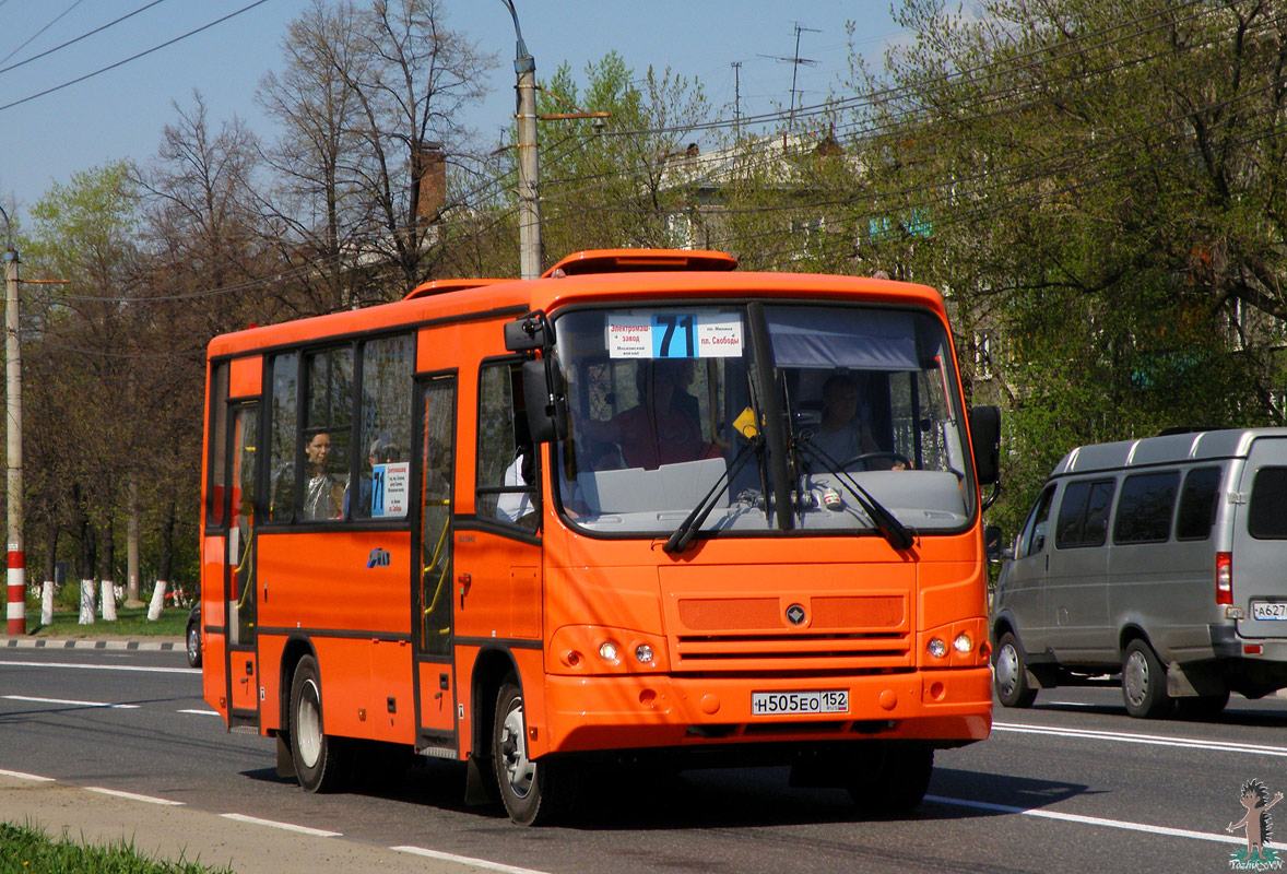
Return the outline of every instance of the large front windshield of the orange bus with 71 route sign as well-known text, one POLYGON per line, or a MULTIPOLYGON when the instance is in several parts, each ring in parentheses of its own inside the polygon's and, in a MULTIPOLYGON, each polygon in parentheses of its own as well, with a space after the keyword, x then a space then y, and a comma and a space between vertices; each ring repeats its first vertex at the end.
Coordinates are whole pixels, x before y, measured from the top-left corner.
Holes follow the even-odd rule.
POLYGON ((837 304, 579 309, 556 322, 560 506, 591 534, 963 530, 976 487, 942 323, 837 304), (757 340, 758 339, 758 340, 757 340), (777 512, 777 502, 789 502, 777 512))

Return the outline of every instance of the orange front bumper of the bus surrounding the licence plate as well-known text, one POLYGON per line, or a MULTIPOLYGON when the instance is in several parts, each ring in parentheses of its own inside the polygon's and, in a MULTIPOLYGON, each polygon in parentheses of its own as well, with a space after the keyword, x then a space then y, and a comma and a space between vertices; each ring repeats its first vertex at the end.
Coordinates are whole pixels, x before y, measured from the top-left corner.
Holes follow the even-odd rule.
POLYGON ((547 676, 544 691, 538 736, 550 753, 858 739, 955 747, 983 740, 992 726, 988 667, 847 678, 547 676), (753 713, 755 693, 834 690, 848 690, 847 713, 753 713))

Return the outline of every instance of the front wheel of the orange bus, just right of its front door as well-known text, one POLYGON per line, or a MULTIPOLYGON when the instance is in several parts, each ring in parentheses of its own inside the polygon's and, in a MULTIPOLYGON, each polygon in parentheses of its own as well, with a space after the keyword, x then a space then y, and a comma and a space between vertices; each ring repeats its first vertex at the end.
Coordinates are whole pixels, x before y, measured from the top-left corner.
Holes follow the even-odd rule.
POLYGON ((579 788, 573 763, 548 756, 528 758, 523 689, 512 674, 495 696, 492 765, 505 810, 519 825, 550 825, 573 808, 579 788))

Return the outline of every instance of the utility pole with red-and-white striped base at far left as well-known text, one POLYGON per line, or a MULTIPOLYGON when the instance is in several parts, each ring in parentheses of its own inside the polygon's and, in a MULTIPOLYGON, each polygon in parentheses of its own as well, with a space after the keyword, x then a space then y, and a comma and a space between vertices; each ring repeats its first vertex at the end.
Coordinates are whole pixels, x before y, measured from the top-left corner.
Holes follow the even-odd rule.
POLYGON ((8 478, 5 480, 9 534, 8 633, 27 633, 27 556, 22 544, 22 351, 18 346, 18 251, 13 247, 9 214, 4 215, 8 247, 4 254, 5 279, 5 389, 8 421, 8 478))

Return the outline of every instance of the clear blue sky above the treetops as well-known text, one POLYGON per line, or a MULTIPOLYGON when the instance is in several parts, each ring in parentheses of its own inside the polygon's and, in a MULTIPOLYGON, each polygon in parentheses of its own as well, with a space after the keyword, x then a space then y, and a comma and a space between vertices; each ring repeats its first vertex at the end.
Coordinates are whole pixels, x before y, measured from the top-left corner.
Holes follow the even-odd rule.
MULTIPOLYGON (((310 3, 0 0, 0 203, 22 224, 54 183, 115 160, 145 163, 178 117, 174 104, 190 109, 194 90, 212 127, 236 116, 272 139, 255 90, 264 73, 282 70, 287 24, 310 3)), ((441 5, 450 30, 497 55, 492 94, 465 121, 499 143, 514 115, 510 12, 503 0, 441 5)), ((801 104, 825 99, 848 71, 846 21, 856 22, 855 44, 873 64, 900 36, 889 0, 514 5, 538 81, 564 62, 580 73, 615 50, 640 75, 653 66, 698 77, 712 104, 728 107, 727 117, 735 99, 743 115, 789 106, 793 73, 801 104)))

